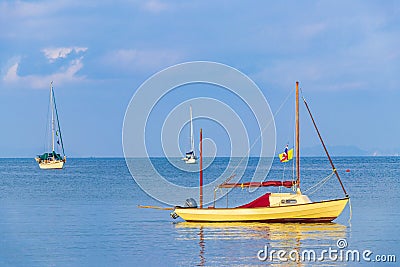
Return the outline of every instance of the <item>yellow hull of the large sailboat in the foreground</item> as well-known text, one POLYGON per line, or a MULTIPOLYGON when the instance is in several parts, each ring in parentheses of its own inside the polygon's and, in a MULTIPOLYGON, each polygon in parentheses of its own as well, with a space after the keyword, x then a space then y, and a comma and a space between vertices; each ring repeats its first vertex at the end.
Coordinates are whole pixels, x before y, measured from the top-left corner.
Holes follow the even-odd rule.
POLYGON ((183 208, 175 213, 188 222, 331 222, 349 198, 263 208, 183 208))

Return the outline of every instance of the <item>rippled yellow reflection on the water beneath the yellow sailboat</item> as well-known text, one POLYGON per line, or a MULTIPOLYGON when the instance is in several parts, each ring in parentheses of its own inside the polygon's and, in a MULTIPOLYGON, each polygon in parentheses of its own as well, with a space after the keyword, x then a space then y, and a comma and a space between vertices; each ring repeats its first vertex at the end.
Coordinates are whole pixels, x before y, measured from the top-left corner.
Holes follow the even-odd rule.
MULTIPOLYGON (((265 246, 271 250, 296 251, 307 249, 322 251, 337 249, 336 241, 346 238, 347 227, 337 223, 195 223, 175 224, 177 239, 197 241, 199 258, 190 265, 253 265, 265 264, 257 252, 265 246), (223 252, 223 253, 222 253, 223 252), (224 255, 224 256, 222 256, 224 255)), ((274 259, 269 264, 279 265, 274 259)), ((315 263, 315 262, 314 262, 315 263)), ((322 263, 322 262, 320 262, 322 263)), ((339 264, 324 260, 324 264, 339 264)), ((342 262, 343 263, 343 262, 342 262)), ((188 262, 186 262, 188 264, 188 262)), ((286 266, 303 266, 310 262, 285 262, 286 266)))

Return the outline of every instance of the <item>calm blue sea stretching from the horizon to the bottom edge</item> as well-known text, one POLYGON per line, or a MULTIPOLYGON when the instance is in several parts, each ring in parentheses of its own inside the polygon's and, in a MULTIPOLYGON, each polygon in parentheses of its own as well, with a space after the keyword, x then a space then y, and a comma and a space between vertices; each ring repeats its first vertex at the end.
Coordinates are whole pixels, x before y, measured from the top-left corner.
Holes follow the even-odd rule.
MULTIPOLYGON (((287 251, 287 258, 304 250, 319 257, 324 249, 344 255, 357 250, 361 257, 360 262, 352 257, 347 262, 344 256, 335 259, 335 254, 331 258, 325 254, 323 261, 289 259, 288 266, 366 264, 362 255, 366 250, 371 252, 364 255, 370 266, 399 266, 400 158, 334 161, 351 197, 351 210, 346 207, 334 223, 196 224, 173 220, 170 211, 138 208, 163 204, 140 189, 124 159, 69 159, 63 170, 40 170, 33 159, 0 159, 0 266, 278 266, 276 258, 258 259, 257 253, 265 248, 287 251), (346 246, 339 248, 338 240, 346 246), (388 262, 392 256, 395 263, 388 262)), ((164 158, 152 162, 168 170, 168 179, 197 185, 197 173, 182 173, 164 158)), ((227 162, 216 159, 204 173, 206 182, 218 176, 227 162)), ((250 159, 244 179, 257 162, 250 159)), ((141 161, 136 164, 140 167, 141 161)), ((146 174, 146 168, 141 171, 146 174)), ((274 162, 269 178, 280 180, 283 173, 291 175, 289 168, 274 162)), ((302 160, 302 188, 329 174, 326 159, 302 160)), ((332 177, 310 198, 341 196, 332 177)), ((229 203, 254 197, 236 189, 229 194, 229 203)), ((226 198, 218 205, 226 205, 226 198)))

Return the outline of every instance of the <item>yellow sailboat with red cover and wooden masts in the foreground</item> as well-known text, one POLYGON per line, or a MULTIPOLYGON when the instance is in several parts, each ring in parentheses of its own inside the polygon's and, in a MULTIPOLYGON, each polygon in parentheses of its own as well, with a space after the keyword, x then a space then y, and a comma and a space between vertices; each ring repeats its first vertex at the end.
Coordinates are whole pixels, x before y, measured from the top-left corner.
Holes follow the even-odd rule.
MULTIPOLYGON (((304 99, 303 99, 304 100, 304 99)), ((349 201, 349 196, 340 180, 339 174, 321 138, 315 121, 312 117, 307 102, 306 108, 311 116, 314 127, 321 140, 322 146, 331 163, 333 173, 339 180, 345 197, 312 202, 300 190, 300 134, 299 134, 299 84, 296 82, 296 180, 295 181, 266 181, 248 183, 228 183, 219 185, 218 188, 233 187, 262 187, 284 186, 294 187, 295 193, 266 193, 254 201, 233 208, 203 208, 202 193, 202 132, 200 130, 200 206, 197 207, 193 199, 186 201, 185 207, 177 206, 171 216, 176 219, 181 217, 188 222, 331 222, 336 219, 349 201)), ((333 175, 332 173, 332 175, 333 175)), ((229 179, 228 179, 229 180, 229 179)))

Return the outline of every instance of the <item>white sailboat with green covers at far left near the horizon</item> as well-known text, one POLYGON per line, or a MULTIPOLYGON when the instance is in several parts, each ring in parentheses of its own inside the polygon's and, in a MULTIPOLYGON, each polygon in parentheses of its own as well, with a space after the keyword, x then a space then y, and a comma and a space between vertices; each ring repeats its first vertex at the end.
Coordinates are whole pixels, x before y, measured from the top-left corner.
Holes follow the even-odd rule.
POLYGON ((53 82, 50 83, 50 113, 51 152, 45 152, 42 155, 37 155, 35 160, 39 164, 39 167, 41 169, 62 169, 67 158, 64 152, 64 143, 61 136, 60 122, 58 120, 53 82), (62 156, 60 155, 60 153, 56 152, 56 143, 58 147, 61 147, 62 156))

